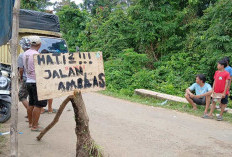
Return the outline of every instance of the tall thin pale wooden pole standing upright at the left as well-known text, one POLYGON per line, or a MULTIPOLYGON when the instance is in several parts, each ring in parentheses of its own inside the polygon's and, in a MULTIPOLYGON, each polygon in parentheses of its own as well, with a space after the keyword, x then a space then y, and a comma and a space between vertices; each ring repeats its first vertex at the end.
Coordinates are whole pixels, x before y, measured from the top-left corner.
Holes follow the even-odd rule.
POLYGON ((17 48, 18 48, 18 30, 19 30, 19 9, 20 0, 15 0, 13 8, 13 26, 12 39, 10 41, 11 53, 11 125, 10 125, 10 141, 11 141, 11 157, 18 156, 18 70, 17 70, 17 48))

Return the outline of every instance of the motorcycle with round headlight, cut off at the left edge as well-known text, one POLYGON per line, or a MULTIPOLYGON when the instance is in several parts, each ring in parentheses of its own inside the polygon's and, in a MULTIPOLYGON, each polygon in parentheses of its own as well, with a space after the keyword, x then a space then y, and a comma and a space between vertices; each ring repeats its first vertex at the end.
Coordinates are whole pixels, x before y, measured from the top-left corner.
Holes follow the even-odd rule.
POLYGON ((11 79, 9 69, 0 69, 0 123, 11 117, 11 79))

